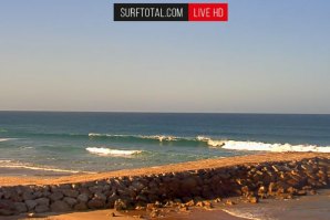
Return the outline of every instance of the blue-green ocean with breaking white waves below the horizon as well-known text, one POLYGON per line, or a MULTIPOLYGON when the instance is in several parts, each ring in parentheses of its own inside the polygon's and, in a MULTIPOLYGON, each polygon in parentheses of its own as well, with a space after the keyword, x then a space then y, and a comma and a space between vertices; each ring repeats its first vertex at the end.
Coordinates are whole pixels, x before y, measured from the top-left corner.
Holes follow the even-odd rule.
POLYGON ((0 167, 105 171, 329 146, 330 115, 0 112, 0 167))

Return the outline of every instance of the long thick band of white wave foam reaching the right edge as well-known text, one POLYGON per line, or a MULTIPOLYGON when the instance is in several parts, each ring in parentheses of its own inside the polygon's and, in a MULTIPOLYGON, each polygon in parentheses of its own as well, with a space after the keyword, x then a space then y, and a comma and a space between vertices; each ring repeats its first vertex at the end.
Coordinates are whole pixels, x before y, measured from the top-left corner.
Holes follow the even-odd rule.
POLYGON ((226 140, 221 143, 223 144, 219 146, 221 146, 223 148, 236 149, 236 150, 330 153, 330 146, 322 147, 317 145, 267 144, 267 143, 259 143, 259 142, 235 142, 235 140, 226 140))

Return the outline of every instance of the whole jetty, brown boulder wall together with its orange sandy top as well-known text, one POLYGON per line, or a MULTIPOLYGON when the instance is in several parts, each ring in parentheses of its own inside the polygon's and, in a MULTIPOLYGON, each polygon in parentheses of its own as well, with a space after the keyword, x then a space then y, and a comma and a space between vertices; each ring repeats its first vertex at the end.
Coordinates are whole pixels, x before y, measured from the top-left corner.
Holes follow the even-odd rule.
POLYGON ((215 210, 218 202, 314 195, 329 188, 329 179, 330 154, 320 153, 268 153, 91 175, 0 177, 0 216, 135 209, 161 217, 168 209, 181 219, 196 207, 215 210))

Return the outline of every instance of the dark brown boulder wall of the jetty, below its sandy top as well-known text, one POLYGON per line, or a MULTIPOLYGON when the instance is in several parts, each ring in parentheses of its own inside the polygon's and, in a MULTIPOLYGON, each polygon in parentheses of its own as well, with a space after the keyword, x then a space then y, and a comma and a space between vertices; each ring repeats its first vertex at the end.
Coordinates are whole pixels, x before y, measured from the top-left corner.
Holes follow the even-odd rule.
MULTIPOLYGON (((205 200, 241 197, 252 203, 266 198, 292 198, 330 186, 330 158, 239 164, 207 169, 121 176, 59 185, 0 187, 0 216, 115 208, 151 210, 174 203, 181 209, 205 200), (184 206, 182 206, 184 205, 184 206)), ((233 205, 227 200, 226 203, 233 205)))

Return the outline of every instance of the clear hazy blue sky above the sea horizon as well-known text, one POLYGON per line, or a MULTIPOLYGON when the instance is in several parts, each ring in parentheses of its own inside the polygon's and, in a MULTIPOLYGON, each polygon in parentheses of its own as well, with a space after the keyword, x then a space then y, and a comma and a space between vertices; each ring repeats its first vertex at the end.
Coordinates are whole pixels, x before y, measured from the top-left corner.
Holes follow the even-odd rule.
POLYGON ((330 114, 330 1, 223 2, 228 22, 114 22, 109 0, 0 0, 0 109, 330 114))

